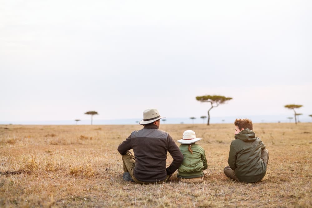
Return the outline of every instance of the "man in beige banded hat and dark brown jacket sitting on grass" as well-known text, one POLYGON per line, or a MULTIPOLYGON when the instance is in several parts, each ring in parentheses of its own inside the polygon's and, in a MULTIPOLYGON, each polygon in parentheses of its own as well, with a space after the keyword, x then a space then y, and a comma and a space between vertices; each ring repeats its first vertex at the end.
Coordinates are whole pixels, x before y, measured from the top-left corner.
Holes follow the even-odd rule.
POLYGON ((137 183, 166 182, 183 161, 183 155, 173 138, 159 130, 160 114, 157 109, 143 112, 144 125, 141 130, 134 131, 118 146, 122 155, 125 181, 137 183), (133 149, 134 156, 130 149, 133 149), (167 152, 173 158, 166 168, 167 152))

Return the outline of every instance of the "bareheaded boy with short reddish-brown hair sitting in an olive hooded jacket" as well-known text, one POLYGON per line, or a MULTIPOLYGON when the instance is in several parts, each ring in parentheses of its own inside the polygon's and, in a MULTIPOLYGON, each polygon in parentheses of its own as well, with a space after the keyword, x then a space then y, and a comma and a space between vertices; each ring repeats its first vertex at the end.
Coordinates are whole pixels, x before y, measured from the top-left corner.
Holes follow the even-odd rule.
POLYGON ((236 119, 235 140, 231 142, 228 164, 224 174, 236 181, 257 182, 266 175, 269 152, 255 136, 249 119, 236 119))

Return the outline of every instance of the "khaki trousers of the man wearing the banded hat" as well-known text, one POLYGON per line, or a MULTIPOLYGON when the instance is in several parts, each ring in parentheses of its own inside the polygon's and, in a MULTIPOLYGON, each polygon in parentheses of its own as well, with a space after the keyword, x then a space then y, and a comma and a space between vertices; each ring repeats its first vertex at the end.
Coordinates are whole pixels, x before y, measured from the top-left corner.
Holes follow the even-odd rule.
POLYGON ((126 154, 122 155, 122 162, 123 162, 123 169, 124 172, 129 172, 131 178, 137 182, 137 183, 163 183, 167 182, 170 176, 167 176, 165 180, 163 181, 157 181, 157 182, 143 182, 139 181, 134 177, 134 167, 135 167, 135 158, 131 152, 127 152, 126 154))

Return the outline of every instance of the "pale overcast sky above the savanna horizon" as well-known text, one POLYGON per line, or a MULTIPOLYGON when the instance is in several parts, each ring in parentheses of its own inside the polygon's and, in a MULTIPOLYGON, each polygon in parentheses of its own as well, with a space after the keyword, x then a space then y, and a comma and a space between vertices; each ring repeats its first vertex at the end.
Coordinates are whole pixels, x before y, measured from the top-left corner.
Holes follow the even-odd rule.
MULTIPOLYGON (((311 1, 0 0, 0 121, 312 114, 311 1)), ((310 119, 311 120, 311 119, 310 119)))

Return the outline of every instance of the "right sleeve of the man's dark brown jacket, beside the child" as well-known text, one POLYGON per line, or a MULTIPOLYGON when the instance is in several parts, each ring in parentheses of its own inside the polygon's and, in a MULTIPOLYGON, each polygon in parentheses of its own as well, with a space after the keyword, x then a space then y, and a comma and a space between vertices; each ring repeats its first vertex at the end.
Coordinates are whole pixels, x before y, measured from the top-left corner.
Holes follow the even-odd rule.
POLYGON ((169 167, 166 168, 167 175, 173 174, 182 164, 183 161, 183 154, 181 153, 178 145, 174 142, 173 138, 168 134, 168 152, 170 153, 171 157, 173 158, 172 163, 169 167))

